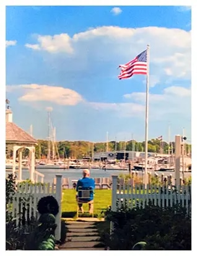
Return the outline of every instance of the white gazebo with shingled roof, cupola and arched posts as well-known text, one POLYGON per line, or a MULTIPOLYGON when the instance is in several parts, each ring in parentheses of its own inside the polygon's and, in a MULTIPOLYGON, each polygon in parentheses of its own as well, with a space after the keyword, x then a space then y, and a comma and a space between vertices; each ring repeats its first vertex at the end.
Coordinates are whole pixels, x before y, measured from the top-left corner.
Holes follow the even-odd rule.
MULTIPOLYGON (((6 100, 9 104, 9 100, 6 100)), ((37 140, 30 136, 26 131, 12 122, 12 110, 6 108, 6 148, 13 151, 12 174, 16 173, 15 160, 18 152, 19 171, 17 180, 22 180, 22 151, 26 148, 30 151, 30 180, 35 180, 35 145, 37 140)))

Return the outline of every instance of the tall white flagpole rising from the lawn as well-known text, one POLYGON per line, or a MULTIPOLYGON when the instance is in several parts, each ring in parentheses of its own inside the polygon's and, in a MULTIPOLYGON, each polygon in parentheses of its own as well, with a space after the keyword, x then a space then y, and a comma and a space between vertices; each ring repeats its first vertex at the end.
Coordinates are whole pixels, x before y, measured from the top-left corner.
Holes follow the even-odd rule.
POLYGON ((145 169, 144 183, 147 185, 147 146, 148 146, 148 128, 149 128, 149 48, 147 45, 147 75, 146 75, 146 117, 145 117, 145 169))

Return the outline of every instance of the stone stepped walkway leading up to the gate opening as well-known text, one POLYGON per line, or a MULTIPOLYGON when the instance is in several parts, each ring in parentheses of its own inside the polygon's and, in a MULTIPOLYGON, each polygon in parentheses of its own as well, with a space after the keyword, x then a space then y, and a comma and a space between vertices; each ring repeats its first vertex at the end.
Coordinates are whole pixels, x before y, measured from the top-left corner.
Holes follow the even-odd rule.
MULTIPOLYGON (((87 219, 87 218, 85 218, 87 219)), ((60 250, 105 250, 95 247, 100 244, 98 231, 94 226, 95 219, 88 221, 66 221, 68 233, 66 243, 59 246, 60 250)))

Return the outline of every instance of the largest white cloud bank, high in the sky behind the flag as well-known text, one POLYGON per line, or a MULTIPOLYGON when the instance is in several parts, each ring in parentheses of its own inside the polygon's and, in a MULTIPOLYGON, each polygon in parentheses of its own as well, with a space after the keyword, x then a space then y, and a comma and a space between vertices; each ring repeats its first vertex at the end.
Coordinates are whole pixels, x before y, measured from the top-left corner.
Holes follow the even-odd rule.
POLYGON ((69 58, 71 70, 79 66, 87 70, 92 65, 107 62, 108 69, 114 66, 113 76, 118 76, 116 66, 134 58, 147 43, 151 45, 151 87, 164 81, 166 76, 191 79, 191 32, 182 29, 103 26, 76 33, 73 37, 67 33, 38 35, 36 44, 26 46, 48 53, 62 53, 61 58, 69 58))

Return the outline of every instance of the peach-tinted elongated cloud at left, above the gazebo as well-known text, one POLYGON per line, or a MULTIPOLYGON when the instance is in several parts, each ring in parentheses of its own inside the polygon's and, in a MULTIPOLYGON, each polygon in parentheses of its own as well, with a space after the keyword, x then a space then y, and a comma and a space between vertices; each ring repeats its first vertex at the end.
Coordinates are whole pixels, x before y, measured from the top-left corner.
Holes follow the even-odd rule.
POLYGON ((58 105, 77 105, 82 102, 82 96, 74 90, 59 86, 38 84, 20 84, 18 86, 6 86, 7 92, 20 90, 20 101, 24 102, 52 102, 58 105))

